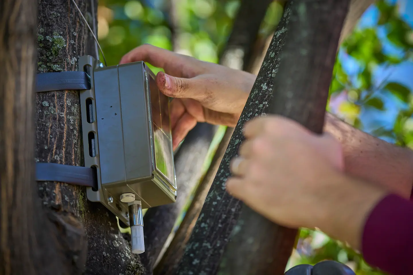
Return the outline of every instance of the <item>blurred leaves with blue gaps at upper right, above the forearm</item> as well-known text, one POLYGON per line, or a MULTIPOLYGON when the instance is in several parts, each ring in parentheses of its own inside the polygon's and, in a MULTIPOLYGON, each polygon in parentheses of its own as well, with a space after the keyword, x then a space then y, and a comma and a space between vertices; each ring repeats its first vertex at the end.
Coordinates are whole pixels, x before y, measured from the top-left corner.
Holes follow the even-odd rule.
POLYGON ((412 61, 413 32, 400 16, 397 2, 380 0, 374 8, 379 13, 375 26, 357 28, 343 42, 330 95, 344 99, 336 113, 350 124, 387 141, 412 147, 411 89, 405 81, 389 78, 399 65, 412 61), (346 70, 345 63, 351 63, 353 68, 346 70), (392 106, 400 106, 394 121, 378 122, 373 129, 363 127, 363 118, 386 115, 387 107, 392 106))

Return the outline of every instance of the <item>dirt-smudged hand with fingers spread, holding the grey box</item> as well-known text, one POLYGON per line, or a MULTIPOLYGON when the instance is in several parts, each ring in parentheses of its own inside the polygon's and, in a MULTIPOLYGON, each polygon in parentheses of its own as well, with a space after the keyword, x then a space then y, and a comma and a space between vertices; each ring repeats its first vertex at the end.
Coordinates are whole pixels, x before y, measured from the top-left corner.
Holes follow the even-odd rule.
POLYGON ((171 102, 173 148, 197 122, 234 127, 256 76, 193 57, 142 45, 122 57, 120 64, 144 61, 163 68, 156 82, 171 102))

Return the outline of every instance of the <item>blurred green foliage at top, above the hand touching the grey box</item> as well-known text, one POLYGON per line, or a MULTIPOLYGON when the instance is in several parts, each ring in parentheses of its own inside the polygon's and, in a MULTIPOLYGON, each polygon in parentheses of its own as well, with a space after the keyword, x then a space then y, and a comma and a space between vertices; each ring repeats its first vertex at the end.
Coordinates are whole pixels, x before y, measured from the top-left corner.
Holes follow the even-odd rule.
MULTIPOLYGON (((145 43, 218 63, 239 5, 239 0, 100 0, 98 39, 108 66, 145 43)), ((281 15, 281 5, 273 2, 259 35, 268 36, 281 15)))

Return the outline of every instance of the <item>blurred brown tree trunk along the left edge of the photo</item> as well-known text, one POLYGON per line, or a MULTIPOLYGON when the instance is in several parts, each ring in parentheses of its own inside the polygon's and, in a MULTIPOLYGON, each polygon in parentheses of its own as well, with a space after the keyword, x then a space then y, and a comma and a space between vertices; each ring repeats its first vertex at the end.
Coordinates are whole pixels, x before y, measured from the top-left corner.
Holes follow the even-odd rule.
POLYGON ((81 223, 43 209, 34 182, 36 0, 0 2, 0 274, 78 274, 81 223))

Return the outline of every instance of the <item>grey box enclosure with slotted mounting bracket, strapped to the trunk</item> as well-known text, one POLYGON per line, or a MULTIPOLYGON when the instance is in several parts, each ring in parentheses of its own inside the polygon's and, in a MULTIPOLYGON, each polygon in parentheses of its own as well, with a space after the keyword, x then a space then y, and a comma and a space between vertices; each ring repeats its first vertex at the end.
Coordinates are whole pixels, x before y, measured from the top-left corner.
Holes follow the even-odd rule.
POLYGON ((142 61, 104 67, 81 56, 78 70, 91 82, 80 92, 85 167, 95 169, 98 183, 87 197, 129 226, 123 193, 135 194, 143 209, 176 200, 169 98, 142 61))

